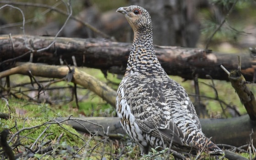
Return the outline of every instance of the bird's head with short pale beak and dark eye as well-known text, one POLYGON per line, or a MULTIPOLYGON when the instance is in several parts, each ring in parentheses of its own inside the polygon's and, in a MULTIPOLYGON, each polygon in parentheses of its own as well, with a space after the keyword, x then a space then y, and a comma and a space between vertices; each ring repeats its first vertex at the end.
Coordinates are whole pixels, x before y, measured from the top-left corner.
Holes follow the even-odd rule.
POLYGON ((137 5, 131 5, 128 7, 120 7, 117 9, 117 12, 124 14, 130 26, 133 28, 133 32, 152 30, 151 18, 148 11, 144 8, 137 5))

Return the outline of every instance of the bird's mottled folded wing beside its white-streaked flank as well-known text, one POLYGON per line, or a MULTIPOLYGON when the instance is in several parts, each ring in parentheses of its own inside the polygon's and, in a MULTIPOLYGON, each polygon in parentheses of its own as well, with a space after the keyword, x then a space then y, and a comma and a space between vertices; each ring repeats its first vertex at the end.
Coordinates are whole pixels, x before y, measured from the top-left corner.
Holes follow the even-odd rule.
POLYGON ((139 128, 165 141, 182 144, 184 135, 171 121, 170 106, 166 101, 166 86, 155 80, 132 79, 127 83, 128 105, 139 128))

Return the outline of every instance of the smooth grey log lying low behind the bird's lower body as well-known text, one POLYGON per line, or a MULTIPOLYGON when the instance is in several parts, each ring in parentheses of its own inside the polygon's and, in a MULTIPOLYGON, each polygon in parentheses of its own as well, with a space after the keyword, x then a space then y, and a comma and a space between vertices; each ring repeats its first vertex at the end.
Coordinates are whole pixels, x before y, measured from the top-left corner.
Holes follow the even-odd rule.
MULTIPOLYGON (((67 117, 57 118, 57 120, 61 121, 65 118, 67 117)), ((126 134, 119 123, 118 117, 84 117, 79 119, 79 123, 74 120, 65 121, 65 123, 82 133, 89 133, 88 131, 90 131, 91 133, 99 132, 102 135, 104 134, 103 129, 98 126, 101 125, 104 128, 104 132, 106 133, 108 130, 110 135, 126 134), (88 121, 98 125, 93 125, 88 123, 88 121)), ((212 137, 211 140, 216 144, 240 147, 250 144, 251 139, 256 139, 256 134, 252 134, 250 139, 250 134, 252 130, 256 130, 256 125, 250 120, 248 115, 227 119, 200 119, 200 123, 203 133, 207 137, 212 137)), ((253 141, 253 144, 255 146, 256 142, 253 141)))

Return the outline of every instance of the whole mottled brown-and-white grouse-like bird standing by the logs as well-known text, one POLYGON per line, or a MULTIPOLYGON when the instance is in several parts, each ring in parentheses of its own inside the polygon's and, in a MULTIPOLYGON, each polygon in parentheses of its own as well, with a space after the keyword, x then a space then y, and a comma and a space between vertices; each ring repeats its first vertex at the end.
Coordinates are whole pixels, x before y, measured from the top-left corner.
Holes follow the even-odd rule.
POLYGON ((195 149, 211 155, 224 151, 202 132, 197 113, 185 89, 162 68, 153 46, 148 11, 120 7, 134 32, 127 68, 117 89, 116 112, 120 123, 141 154, 152 147, 195 149))

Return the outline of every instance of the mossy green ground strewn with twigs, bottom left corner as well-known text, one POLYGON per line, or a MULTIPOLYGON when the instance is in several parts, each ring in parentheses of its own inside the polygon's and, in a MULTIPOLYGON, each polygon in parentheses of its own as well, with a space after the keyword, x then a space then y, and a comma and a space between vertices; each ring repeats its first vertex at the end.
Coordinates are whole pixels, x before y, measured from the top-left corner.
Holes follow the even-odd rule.
MULTIPOLYGON (((35 140, 38 139, 32 150, 50 140, 50 144, 43 145, 43 148, 46 148, 48 145, 53 147, 53 151, 51 151, 50 155, 35 155, 36 158, 40 159, 43 156, 42 160, 61 160, 64 157, 69 159, 75 155, 74 153, 76 153, 78 149, 80 149, 77 153, 80 155, 78 159, 98 160, 101 159, 102 156, 107 159, 112 159, 112 154, 115 153, 115 147, 112 140, 97 136, 84 137, 80 133, 77 133, 74 128, 65 124, 48 124, 46 122, 54 123, 54 121, 48 121, 44 118, 26 120, 21 118, 11 118, 8 120, 0 119, 0 131, 6 128, 11 129, 10 137, 8 139, 14 134, 19 134, 21 144, 28 148, 31 148, 35 140), (13 128, 15 124, 16 127, 13 128), (39 137, 40 135, 41 137, 39 137), (60 136, 61 139, 58 141, 57 139, 60 136)), ((12 139, 11 144, 14 144, 17 140, 16 136, 12 139)), ((24 148, 19 146, 17 149, 22 151, 24 148)))

